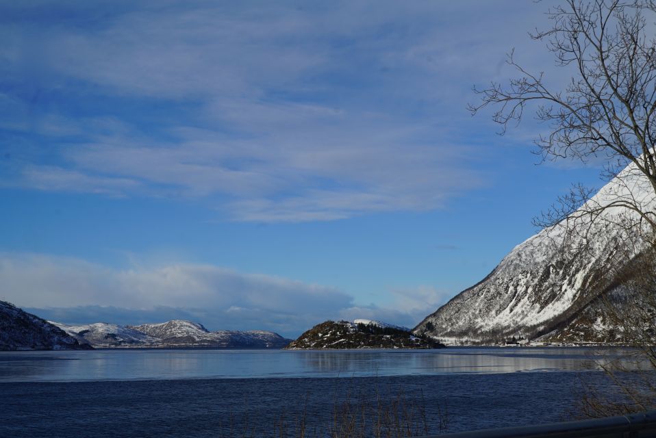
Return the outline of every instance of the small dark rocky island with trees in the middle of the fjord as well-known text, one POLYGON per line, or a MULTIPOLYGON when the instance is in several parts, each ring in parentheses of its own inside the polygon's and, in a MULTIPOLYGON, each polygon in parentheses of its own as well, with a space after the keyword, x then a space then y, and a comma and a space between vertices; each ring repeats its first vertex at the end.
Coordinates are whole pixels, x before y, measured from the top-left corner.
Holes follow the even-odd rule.
MULTIPOLYGON (((363 321, 363 320, 356 320, 363 321)), ((368 320, 367 320, 368 321, 368 320)), ((443 344, 428 337, 416 337, 407 330, 394 329, 389 324, 356 324, 348 321, 326 321, 306 331, 286 348, 344 349, 344 348, 442 348, 443 344)))

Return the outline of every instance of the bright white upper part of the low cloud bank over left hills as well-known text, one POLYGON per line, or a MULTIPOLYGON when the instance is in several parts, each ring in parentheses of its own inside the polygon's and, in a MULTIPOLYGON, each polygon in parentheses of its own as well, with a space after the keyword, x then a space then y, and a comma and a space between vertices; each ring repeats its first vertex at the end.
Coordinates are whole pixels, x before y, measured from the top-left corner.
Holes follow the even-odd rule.
POLYGON ((340 309, 351 297, 331 287, 212 265, 170 263, 118 270, 81 259, 38 254, 0 256, 0 291, 21 305, 145 308, 221 307, 298 313, 340 309))

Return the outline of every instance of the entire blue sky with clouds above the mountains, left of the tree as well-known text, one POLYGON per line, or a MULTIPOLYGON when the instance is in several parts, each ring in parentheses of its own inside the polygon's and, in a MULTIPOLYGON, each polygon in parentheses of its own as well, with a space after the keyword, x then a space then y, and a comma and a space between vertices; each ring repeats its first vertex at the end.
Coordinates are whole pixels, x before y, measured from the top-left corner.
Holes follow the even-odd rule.
POLYGON ((549 2, 0 3, 0 299, 61 322, 414 326, 593 168, 472 118, 549 2), (452 4, 457 3, 457 4, 452 4))

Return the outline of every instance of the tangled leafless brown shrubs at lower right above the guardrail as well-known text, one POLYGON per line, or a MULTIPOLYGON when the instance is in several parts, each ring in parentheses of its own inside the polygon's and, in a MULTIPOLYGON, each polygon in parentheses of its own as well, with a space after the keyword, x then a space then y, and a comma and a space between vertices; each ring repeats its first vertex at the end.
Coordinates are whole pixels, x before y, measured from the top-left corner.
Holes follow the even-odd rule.
POLYGON ((593 304, 593 335, 600 342, 629 346, 605 350, 594 366, 601 381, 583 374, 579 415, 625 415, 656 407, 656 257, 648 250, 622 269, 614 287, 593 304), (601 357, 601 359, 599 359, 601 357))

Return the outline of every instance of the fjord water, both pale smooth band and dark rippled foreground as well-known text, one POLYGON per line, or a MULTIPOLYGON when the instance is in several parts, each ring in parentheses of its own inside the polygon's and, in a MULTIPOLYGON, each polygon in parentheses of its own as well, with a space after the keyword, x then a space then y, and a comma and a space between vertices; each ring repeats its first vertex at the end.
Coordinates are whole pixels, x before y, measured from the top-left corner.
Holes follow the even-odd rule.
POLYGON ((345 400, 375 406, 399 394, 425 409, 431 433, 444 408, 449 431, 557 422, 575 409, 581 378, 603 379, 595 357, 592 348, 3 352, 0 436, 267 436, 301 417, 326 430, 345 400))

